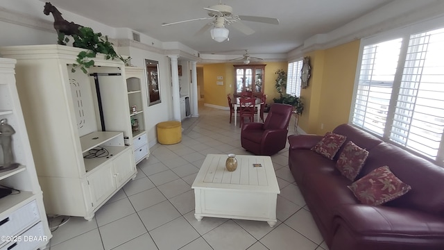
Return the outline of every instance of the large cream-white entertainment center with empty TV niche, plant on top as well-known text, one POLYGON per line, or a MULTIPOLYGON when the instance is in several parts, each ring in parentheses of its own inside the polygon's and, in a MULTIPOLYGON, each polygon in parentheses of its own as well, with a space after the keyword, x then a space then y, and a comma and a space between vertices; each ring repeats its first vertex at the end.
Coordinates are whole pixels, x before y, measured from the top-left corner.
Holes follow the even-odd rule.
POLYGON ((4 57, 17 60, 17 89, 46 213, 90 220, 135 178, 136 161, 149 156, 146 98, 143 69, 98 55, 87 74, 73 72, 79 51, 55 44, 0 47, 4 57), (132 117, 139 120, 134 133, 132 117))

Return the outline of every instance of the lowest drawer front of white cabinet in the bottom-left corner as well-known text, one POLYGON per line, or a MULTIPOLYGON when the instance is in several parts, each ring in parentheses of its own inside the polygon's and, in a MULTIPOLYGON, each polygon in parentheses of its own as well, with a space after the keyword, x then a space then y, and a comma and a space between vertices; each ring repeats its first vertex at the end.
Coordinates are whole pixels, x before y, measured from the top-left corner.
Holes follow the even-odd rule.
POLYGON ((30 250, 43 247, 49 243, 48 237, 44 235, 42 222, 35 224, 28 231, 17 235, 13 241, 6 244, 0 250, 30 250))

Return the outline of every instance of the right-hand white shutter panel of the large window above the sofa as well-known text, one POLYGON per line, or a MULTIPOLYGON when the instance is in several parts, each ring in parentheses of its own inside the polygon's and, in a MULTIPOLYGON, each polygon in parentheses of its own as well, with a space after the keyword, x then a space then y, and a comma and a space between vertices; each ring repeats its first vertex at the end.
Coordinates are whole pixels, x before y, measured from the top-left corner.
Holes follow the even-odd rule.
POLYGON ((410 36, 390 131, 392 142, 434 160, 444 129, 443 48, 444 28, 410 36))

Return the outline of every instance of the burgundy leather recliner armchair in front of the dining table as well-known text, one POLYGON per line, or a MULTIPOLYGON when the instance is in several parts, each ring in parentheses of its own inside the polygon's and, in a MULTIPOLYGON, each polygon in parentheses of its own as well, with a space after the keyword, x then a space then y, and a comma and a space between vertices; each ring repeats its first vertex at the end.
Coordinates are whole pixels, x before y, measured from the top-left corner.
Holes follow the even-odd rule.
POLYGON ((273 103, 264 123, 245 123, 241 130, 242 147, 259 156, 272 156, 284 149, 293 106, 273 103))

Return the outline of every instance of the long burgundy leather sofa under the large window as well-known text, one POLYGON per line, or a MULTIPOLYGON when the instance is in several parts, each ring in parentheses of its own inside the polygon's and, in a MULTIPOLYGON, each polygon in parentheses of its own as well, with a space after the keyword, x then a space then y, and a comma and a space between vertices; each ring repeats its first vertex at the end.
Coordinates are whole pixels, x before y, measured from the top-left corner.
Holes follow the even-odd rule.
POLYGON ((381 206, 364 205, 335 168, 342 149, 329 160, 310 150, 323 136, 290 135, 291 173, 330 250, 444 249, 444 168, 348 124, 332 132, 369 151, 355 180, 387 165, 411 190, 381 206))

